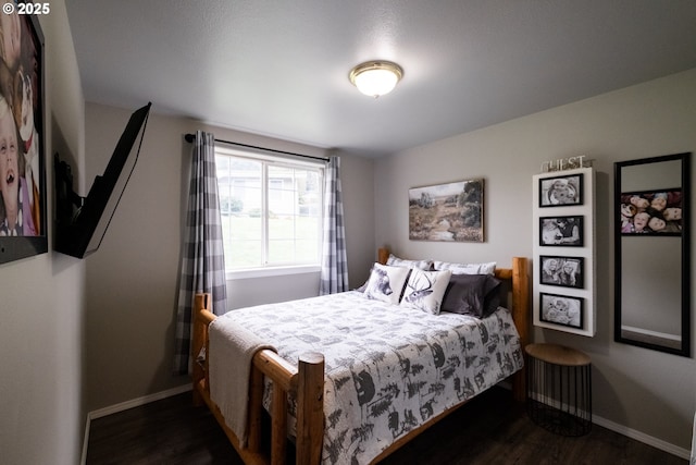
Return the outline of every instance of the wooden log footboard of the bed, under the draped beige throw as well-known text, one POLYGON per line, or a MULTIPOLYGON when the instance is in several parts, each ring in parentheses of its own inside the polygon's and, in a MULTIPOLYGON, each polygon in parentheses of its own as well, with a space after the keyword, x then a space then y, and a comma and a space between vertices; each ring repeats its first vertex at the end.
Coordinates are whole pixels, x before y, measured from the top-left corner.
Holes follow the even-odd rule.
MULTIPOLYGON (((201 350, 208 354, 208 327, 215 319, 209 310, 209 294, 197 294, 194 305, 192 354, 201 350)), ((296 463, 319 464, 324 437, 324 356, 304 354, 294 367, 273 351, 259 351, 253 356, 249 382, 248 439, 243 446, 239 438, 227 427, 220 408, 210 397, 208 359, 196 360, 192 367, 194 402, 206 403, 227 438, 246 464, 284 464, 287 458, 287 394, 297 401, 296 463), (263 450, 262 417, 263 378, 273 381, 270 451, 263 450)))

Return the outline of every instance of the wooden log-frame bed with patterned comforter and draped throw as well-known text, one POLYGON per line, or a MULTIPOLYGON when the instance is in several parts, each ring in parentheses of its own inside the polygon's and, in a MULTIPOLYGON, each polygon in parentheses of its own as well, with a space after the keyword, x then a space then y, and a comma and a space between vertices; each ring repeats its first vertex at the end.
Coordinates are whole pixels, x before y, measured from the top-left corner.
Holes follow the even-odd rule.
MULTIPOLYGON (((380 249, 378 257, 384 265, 393 256, 380 249)), ((207 309, 209 296, 199 294, 195 402, 208 405, 247 464, 377 463, 502 379, 510 379, 515 400, 524 399, 526 258, 514 257, 495 277, 507 283, 509 310, 496 306, 474 325, 468 315, 365 298, 366 290, 217 318, 207 309), (312 322, 318 326, 308 330, 312 322)))

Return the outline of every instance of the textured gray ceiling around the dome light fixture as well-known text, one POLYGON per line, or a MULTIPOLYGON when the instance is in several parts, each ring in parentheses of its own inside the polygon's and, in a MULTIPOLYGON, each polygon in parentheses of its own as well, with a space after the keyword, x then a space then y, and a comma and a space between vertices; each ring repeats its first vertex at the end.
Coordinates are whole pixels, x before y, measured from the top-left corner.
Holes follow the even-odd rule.
POLYGON ((66 0, 89 101, 369 156, 696 68, 694 0, 66 0), (405 76, 378 99, 365 60, 405 76))

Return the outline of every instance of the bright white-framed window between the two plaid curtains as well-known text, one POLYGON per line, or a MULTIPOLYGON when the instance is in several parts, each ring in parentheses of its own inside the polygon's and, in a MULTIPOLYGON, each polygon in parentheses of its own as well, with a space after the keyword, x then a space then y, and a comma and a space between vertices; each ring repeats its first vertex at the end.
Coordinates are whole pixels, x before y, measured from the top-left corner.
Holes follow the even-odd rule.
POLYGON ((228 272, 319 266, 324 166, 215 147, 228 272))

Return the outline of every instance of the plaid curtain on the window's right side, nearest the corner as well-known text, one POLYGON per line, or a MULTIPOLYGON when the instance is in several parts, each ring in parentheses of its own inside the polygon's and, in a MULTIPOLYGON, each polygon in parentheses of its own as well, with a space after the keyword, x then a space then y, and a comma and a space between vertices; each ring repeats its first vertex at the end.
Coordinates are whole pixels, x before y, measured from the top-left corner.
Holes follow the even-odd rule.
POLYGON ((340 158, 330 157, 324 182, 324 237, 320 295, 348 291, 348 260, 339 170, 340 158))

